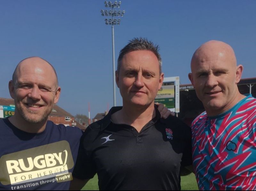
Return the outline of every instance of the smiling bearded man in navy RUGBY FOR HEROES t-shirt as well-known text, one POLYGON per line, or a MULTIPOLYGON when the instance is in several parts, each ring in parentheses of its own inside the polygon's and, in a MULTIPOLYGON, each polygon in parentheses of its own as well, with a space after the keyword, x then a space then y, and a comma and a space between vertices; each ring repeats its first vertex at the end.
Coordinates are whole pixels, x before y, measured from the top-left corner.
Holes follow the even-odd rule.
POLYGON ((0 119, 0 190, 68 190, 82 131, 47 121, 60 96, 54 68, 22 60, 9 91, 15 112, 0 119))

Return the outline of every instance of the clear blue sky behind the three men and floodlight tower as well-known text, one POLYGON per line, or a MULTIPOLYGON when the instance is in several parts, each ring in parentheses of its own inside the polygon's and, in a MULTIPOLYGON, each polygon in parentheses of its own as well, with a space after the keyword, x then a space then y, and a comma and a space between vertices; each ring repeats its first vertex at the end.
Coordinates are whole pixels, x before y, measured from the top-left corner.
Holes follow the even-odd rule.
MULTIPOLYGON (((113 1, 112 1, 113 2, 113 1)), ((22 59, 40 56, 55 67, 62 88, 58 105, 91 118, 113 106, 111 26, 100 15, 103 0, 1 0, 0 97, 22 59)), ((116 60, 133 37, 159 44, 165 77, 189 84, 190 59, 208 40, 230 44, 243 78, 256 77, 256 1, 123 0, 115 26, 116 60)), ((116 89, 117 105, 122 105, 116 89)))

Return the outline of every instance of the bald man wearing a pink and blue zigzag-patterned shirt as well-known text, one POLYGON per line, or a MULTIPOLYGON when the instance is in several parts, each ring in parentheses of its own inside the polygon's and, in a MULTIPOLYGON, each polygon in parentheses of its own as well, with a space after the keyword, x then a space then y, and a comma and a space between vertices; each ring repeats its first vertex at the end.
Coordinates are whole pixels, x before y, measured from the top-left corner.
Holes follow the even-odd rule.
POLYGON ((204 43, 191 59, 188 77, 205 108, 191 125, 200 190, 256 189, 256 99, 238 91, 242 70, 221 41, 204 43))

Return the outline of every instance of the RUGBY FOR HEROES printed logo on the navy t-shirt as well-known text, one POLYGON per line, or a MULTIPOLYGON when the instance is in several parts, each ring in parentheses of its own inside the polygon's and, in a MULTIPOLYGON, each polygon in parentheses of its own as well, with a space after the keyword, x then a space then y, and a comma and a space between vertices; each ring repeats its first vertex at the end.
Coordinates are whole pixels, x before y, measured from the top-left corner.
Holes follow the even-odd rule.
POLYGON ((42 184, 49 178, 54 179, 52 182, 68 181, 72 180, 68 170, 73 166, 69 143, 59 141, 3 155, 0 158, 0 181, 3 185, 36 180, 42 184))

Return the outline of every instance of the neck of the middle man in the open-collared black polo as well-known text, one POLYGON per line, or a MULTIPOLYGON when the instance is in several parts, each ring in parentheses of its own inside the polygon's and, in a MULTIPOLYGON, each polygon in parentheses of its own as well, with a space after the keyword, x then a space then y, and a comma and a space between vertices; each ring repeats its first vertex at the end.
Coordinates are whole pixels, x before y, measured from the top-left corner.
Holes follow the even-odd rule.
POLYGON ((156 116, 154 102, 149 106, 138 107, 124 104, 123 108, 111 115, 114 123, 133 126, 138 132, 156 116))

